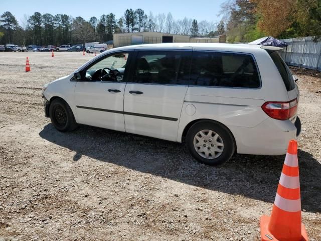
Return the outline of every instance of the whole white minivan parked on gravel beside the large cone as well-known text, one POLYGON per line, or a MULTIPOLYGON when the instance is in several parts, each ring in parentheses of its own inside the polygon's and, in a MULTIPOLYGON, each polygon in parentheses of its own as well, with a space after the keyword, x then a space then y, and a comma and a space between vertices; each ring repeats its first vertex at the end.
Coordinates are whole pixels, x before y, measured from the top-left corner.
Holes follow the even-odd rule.
POLYGON ((46 84, 45 115, 185 143, 198 161, 282 155, 300 134, 299 91, 280 48, 151 44, 108 50, 46 84))

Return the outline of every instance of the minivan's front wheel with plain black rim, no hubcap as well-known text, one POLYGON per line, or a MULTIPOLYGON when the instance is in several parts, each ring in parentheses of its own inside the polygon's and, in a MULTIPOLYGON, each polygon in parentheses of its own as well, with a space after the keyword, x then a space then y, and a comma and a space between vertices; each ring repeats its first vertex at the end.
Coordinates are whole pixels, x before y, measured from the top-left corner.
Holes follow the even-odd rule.
POLYGON ((49 106, 51 123, 60 132, 70 132, 77 128, 74 114, 63 99, 54 99, 49 106))

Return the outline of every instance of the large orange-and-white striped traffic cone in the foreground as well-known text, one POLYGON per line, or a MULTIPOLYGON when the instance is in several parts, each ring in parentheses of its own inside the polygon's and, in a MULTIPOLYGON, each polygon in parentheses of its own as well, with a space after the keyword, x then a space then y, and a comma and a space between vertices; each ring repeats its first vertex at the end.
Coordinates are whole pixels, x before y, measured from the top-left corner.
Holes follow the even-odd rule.
POLYGON ((261 241, 307 241, 301 223, 297 143, 289 142, 271 216, 260 220, 261 241))

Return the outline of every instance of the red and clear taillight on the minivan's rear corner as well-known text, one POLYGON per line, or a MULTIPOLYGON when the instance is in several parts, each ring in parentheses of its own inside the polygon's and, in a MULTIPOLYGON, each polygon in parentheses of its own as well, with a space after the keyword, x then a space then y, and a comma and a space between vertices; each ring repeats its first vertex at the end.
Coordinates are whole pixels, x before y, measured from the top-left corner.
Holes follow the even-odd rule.
POLYGON ((297 99, 288 102, 269 101, 262 105, 263 111, 274 119, 285 121, 296 114, 297 99))

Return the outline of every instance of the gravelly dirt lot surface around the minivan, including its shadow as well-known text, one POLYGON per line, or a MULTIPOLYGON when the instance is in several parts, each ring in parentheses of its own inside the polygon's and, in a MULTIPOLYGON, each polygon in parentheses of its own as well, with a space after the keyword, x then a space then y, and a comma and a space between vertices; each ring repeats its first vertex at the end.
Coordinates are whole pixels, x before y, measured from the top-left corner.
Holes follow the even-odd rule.
MULTIPOLYGON (((259 240, 284 156, 236 155, 220 168, 181 144, 44 117, 43 84, 91 59, 0 53, 0 240, 259 240), (26 56, 31 72, 25 73, 26 56)), ((321 240, 321 76, 299 77, 302 221, 321 240)))

